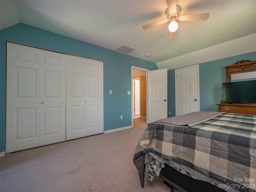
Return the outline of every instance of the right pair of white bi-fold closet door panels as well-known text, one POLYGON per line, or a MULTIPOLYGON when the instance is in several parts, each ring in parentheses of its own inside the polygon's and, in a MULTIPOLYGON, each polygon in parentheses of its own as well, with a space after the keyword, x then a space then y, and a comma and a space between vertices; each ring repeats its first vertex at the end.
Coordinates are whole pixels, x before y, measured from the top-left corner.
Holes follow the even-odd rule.
POLYGON ((103 63, 66 56, 66 140, 104 131, 103 63))

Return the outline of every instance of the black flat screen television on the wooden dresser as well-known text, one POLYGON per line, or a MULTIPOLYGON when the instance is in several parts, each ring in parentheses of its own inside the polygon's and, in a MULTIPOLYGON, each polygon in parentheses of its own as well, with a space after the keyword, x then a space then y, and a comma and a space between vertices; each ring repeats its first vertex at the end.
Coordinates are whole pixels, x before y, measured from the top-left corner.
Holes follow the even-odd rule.
POLYGON ((256 103, 256 80, 222 83, 223 102, 256 103))

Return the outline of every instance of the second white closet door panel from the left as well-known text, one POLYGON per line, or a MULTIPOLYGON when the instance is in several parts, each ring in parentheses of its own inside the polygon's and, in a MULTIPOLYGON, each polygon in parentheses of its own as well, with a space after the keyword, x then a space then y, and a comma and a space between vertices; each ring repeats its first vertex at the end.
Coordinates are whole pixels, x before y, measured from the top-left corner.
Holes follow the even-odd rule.
POLYGON ((66 140, 66 56, 40 50, 40 146, 66 140))

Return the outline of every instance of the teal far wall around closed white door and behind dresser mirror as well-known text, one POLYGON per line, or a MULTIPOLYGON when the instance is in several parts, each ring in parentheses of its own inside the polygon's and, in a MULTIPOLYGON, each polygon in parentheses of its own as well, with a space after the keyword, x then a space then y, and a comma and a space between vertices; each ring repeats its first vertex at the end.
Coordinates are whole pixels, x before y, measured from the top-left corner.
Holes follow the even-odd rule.
MULTIPOLYGON (((218 111, 222 100, 222 83, 226 82, 225 66, 240 60, 256 60, 256 52, 199 64, 200 111, 218 111)), ((175 116, 175 70, 168 70, 168 111, 175 116)))

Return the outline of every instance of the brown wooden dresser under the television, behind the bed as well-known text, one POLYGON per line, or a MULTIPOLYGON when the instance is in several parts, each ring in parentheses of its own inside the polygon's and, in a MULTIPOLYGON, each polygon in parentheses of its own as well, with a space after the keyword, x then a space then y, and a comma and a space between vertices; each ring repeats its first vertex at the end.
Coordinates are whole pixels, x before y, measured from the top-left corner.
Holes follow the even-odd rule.
POLYGON ((242 113, 256 115, 256 104, 231 103, 220 101, 219 112, 242 113))

